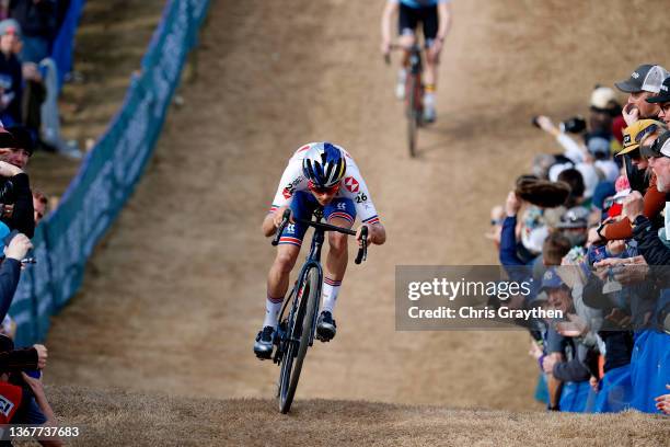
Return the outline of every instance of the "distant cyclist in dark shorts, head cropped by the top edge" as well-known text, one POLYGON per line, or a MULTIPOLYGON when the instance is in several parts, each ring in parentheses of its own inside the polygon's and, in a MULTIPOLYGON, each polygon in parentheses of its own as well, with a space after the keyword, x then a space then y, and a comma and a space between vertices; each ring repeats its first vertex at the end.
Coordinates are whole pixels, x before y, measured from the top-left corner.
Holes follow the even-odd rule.
MULTIPOLYGON (((382 13, 381 50, 384 56, 391 50, 391 18, 398 12, 398 43, 405 48, 416 43, 415 30, 419 22, 424 28, 426 44, 426 72, 424 93, 424 121, 432 123, 436 119, 435 91, 437 87, 437 66, 444 37, 451 27, 451 0, 388 0, 382 13)), ((405 79, 409 53, 405 51, 402 68, 397 74, 395 95, 398 100, 405 98, 405 79)))

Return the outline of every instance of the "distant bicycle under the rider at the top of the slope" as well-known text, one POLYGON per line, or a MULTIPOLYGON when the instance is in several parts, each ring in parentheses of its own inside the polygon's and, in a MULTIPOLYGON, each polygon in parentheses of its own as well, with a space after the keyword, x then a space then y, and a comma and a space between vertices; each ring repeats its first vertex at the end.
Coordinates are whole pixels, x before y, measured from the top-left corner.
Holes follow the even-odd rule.
MULTIPOLYGON (((416 157, 416 141, 418 128, 424 126, 424 62, 421 48, 413 45, 406 48, 402 45, 391 45, 391 49, 408 50, 408 70, 405 78, 405 114, 407 116, 407 144, 409 157, 416 157)), ((386 64, 391 64, 391 57, 384 56, 386 64)))

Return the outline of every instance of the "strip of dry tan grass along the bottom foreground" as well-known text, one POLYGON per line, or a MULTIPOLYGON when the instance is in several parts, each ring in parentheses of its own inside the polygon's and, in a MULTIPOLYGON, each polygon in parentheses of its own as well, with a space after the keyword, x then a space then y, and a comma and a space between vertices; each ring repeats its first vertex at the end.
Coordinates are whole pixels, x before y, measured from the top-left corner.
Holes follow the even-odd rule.
POLYGON ((668 419, 450 410, 366 401, 296 401, 290 414, 259 399, 190 399, 51 387, 61 423, 84 446, 662 446, 668 419))

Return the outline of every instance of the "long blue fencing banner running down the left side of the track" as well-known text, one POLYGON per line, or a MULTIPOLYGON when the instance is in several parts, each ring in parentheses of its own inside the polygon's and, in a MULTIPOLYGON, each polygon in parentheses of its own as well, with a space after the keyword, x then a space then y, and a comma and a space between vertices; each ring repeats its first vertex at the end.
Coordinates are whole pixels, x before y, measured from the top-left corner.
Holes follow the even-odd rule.
POLYGON ((58 208, 35 230, 37 264, 21 275, 10 316, 16 345, 44 340, 50 317, 79 290, 86 261, 153 153, 209 0, 169 0, 120 111, 88 153, 58 208))

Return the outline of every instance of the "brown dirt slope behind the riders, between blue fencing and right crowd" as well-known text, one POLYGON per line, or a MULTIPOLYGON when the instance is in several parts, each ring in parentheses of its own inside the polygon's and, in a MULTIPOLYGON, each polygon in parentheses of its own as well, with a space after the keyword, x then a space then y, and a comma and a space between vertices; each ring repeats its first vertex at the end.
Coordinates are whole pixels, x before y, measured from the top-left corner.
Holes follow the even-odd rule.
MULTIPOLYGON (((395 332, 394 267, 495 262, 489 207, 533 153, 554 149, 530 117, 585 112, 594 83, 667 53, 633 48, 650 38, 640 30, 616 33, 631 22, 617 11, 642 21, 639 3, 613 0, 602 18, 597 2, 457 1, 439 123, 408 160, 395 70, 377 49, 382 3, 213 1, 198 82, 55 319, 50 382, 273 396, 278 370, 252 354, 274 253, 259 224, 291 151, 330 139, 356 158, 389 242, 347 272, 337 339, 310 352, 298 399, 535 408, 525 334, 395 332)), ((661 22, 655 42, 668 42, 661 22)))

